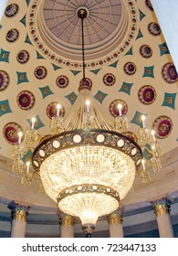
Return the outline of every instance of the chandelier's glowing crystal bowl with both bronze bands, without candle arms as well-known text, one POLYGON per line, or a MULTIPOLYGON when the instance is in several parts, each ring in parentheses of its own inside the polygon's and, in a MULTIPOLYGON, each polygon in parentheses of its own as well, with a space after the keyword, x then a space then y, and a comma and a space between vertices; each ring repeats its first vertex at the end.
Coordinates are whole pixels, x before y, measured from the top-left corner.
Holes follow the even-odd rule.
POLYGON ((39 144, 33 155, 47 195, 83 225, 95 225, 99 216, 119 207, 140 162, 138 144, 99 129, 56 134, 39 144))

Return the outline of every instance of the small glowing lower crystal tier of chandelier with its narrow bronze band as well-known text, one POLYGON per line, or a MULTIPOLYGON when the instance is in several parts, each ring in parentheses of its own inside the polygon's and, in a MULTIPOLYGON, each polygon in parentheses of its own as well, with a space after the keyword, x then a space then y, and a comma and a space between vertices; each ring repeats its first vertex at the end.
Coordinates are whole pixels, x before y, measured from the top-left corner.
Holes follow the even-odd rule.
POLYGON ((78 216, 82 226, 95 225, 99 216, 110 214, 119 207, 120 197, 116 191, 100 185, 70 187, 59 193, 58 208, 71 216, 78 216), (65 193, 68 190, 68 193, 65 193), (114 195, 112 195, 114 194, 114 195))

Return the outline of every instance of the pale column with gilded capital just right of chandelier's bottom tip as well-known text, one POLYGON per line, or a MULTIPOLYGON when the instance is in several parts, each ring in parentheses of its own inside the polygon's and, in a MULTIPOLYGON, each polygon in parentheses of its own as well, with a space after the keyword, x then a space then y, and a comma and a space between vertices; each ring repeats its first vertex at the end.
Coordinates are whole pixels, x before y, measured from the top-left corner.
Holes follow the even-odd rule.
POLYGON ((110 238, 123 238, 122 209, 110 213, 108 217, 110 238))

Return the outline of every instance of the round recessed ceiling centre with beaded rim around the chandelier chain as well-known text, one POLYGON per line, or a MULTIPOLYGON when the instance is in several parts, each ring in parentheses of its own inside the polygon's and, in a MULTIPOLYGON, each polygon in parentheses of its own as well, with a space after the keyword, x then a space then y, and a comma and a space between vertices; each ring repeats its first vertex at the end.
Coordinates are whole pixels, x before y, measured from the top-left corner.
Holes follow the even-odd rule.
MULTIPOLYGON (((79 17, 76 12, 79 7, 84 5, 81 5, 80 1, 75 1, 75 7, 72 7, 72 4, 72 0, 68 1, 67 5, 62 5, 60 1, 33 0, 28 7, 26 27, 32 44, 45 59, 50 59, 53 63, 69 69, 82 69, 79 17), (64 22, 61 21, 60 15, 58 17, 60 10, 63 10, 64 22), (69 15, 73 16, 73 19, 70 19, 69 15), (68 23, 66 29, 63 27, 65 22, 68 23), (56 25, 57 29, 53 29, 54 27, 50 23, 56 25), (77 36, 73 30, 68 30, 69 25, 74 28, 79 37, 79 41, 75 44, 74 37, 77 36), (63 27, 63 30, 61 30, 61 27, 63 27), (71 43, 70 39, 72 40, 71 43)), ((94 19, 90 25, 89 19, 95 10, 90 8, 88 1, 85 1, 84 6, 88 11, 85 20, 85 35, 88 33, 87 31, 90 31, 90 34, 85 36, 87 69, 110 64, 126 53, 137 37, 140 21, 138 7, 132 0, 124 0, 121 5, 120 1, 116 5, 115 1, 112 0, 108 0, 105 3, 106 6, 101 1, 94 1, 94 4, 97 8, 96 11, 98 11, 95 16, 98 16, 98 18, 94 19), (100 20, 98 20, 99 18, 100 20), (105 21, 101 22, 101 20, 105 21), (97 27, 99 28, 97 29, 97 27), (96 39, 91 41, 91 38, 92 40, 96 39)))

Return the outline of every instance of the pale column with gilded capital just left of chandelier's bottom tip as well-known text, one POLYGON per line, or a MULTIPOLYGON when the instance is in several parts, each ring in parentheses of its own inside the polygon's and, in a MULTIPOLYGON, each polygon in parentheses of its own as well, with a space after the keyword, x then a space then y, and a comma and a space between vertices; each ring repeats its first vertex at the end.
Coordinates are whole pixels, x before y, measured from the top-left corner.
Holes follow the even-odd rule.
POLYGON ((74 217, 68 214, 60 214, 59 223, 60 223, 60 237, 73 238, 74 237, 74 217))

